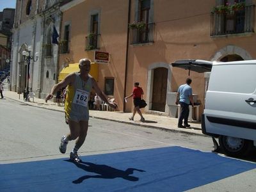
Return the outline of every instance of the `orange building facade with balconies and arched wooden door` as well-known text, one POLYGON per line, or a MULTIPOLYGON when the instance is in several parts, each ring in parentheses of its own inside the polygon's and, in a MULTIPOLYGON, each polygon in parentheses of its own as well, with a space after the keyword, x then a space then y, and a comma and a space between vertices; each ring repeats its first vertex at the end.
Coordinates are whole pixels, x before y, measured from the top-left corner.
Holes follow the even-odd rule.
MULTIPOLYGON (((210 74, 172 68, 176 60, 252 60, 256 57, 255 1, 74 0, 61 6, 59 68, 80 58, 97 64, 98 83, 120 111, 131 111, 135 81, 145 92, 145 111, 177 116, 172 97, 190 75, 193 93, 204 109, 210 74), (222 5, 222 6, 221 6, 222 5)), ((227 74, 228 76, 228 74, 227 74)))

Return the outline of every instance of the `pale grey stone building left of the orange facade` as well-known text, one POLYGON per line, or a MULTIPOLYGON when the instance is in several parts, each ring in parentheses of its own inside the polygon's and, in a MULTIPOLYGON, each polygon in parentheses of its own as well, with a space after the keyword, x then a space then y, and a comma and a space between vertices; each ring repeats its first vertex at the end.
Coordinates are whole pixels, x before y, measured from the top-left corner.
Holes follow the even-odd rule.
POLYGON ((11 89, 29 88, 45 97, 56 83, 58 36, 61 24, 60 0, 17 0, 13 28, 11 89), (55 42, 54 42, 55 41, 55 42), (24 58, 23 51, 30 52, 24 58))

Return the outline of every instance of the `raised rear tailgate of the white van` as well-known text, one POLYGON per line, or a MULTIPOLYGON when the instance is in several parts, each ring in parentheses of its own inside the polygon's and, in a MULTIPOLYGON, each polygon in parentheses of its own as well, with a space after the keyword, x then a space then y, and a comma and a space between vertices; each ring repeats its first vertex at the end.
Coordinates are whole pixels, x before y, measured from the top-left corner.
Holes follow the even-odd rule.
POLYGON ((211 72, 212 62, 204 60, 177 60, 174 63, 172 63, 172 67, 179 67, 189 70, 189 76, 190 70, 193 70, 198 73, 211 72))

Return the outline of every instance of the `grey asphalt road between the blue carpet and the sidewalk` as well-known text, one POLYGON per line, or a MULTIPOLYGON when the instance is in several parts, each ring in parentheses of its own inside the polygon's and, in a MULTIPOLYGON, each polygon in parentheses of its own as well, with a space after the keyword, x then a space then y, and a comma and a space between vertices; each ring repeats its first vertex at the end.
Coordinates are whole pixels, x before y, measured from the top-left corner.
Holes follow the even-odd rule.
MULTIPOLYGON (((0 100, 0 162, 31 161, 65 157, 58 151, 60 138, 68 132, 64 114, 35 108, 10 99, 0 100)), ((212 150, 211 138, 168 132, 136 125, 90 118, 86 142, 81 154, 99 154, 141 148, 182 146, 212 150)), ((68 144, 72 150, 74 141, 68 144)))

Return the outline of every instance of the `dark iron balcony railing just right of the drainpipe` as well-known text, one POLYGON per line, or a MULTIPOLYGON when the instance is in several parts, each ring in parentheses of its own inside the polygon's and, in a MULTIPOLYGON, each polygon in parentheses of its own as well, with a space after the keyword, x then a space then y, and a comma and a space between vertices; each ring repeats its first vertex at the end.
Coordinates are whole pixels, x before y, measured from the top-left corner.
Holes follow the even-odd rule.
POLYGON ((154 43, 155 23, 145 24, 144 28, 130 28, 130 44, 154 43))

